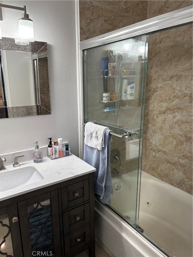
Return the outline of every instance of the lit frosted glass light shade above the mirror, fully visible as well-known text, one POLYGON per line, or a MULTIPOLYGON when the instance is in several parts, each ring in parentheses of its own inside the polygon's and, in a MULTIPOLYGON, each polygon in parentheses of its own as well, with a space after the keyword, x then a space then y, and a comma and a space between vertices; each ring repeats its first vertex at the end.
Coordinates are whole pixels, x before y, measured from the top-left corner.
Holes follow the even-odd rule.
POLYGON ((34 42, 32 20, 19 19, 19 39, 27 42, 34 42))

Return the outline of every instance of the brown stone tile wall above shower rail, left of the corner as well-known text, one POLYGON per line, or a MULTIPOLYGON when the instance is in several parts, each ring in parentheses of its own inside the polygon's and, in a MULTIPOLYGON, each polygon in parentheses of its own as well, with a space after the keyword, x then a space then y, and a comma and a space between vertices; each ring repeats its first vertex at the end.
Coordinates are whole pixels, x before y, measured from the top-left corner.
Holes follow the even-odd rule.
POLYGON ((147 1, 79 0, 80 40, 102 35, 147 17, 147 1))

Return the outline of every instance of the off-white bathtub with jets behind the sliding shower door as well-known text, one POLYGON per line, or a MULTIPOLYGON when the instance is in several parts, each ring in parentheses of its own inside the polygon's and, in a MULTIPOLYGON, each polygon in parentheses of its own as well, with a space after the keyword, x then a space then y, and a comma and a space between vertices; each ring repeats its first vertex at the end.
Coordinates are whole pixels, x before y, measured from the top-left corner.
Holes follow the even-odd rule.
MULTIPOLYGON (((131 223, 135 217, 135 175, 136 171, 132 171, 121 178, 112 178, 111 206, 131 223)), ((176 257, 192 256, 192 196, 143 171, 139 226, 144 233, 139 233, 98 200, 95 200, 95 219, 96 240, 110 256, 167 256, 163 251, 176 257)))

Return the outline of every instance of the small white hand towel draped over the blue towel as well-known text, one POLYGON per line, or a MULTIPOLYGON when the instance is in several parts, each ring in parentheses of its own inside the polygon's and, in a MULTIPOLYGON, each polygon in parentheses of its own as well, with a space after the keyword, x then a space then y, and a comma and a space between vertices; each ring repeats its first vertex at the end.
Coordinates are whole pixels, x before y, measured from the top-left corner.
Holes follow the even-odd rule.
POLYGON ((84 127, 84 143, 87 146, 102 150, 104 147, 104 134, 108 127, 87 122, 84 127))

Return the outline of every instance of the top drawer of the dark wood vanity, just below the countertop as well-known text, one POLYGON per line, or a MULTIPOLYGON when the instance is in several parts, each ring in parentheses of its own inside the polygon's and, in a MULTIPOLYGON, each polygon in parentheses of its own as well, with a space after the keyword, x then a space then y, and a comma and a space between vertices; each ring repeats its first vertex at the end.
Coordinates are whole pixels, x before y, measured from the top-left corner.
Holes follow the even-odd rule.
POLYGON ((89 200, 89 180, 83 180, 61 189, 62 210, 89 200), (66 197, 67 196, 67 197, 66 197))

